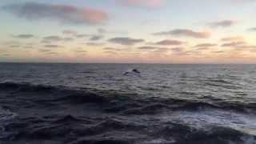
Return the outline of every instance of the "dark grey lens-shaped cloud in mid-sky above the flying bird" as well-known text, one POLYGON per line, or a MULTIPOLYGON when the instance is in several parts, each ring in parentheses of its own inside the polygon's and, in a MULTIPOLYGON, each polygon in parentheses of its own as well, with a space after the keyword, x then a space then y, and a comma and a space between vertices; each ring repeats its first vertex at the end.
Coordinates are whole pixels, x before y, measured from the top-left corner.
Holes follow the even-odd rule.
POLYGON ((144 42, 144 39, 118 37, 118 38, 110 38, 108 40, 108 42, 130 46, 130 45, 134 45, 136 43, 144 42))

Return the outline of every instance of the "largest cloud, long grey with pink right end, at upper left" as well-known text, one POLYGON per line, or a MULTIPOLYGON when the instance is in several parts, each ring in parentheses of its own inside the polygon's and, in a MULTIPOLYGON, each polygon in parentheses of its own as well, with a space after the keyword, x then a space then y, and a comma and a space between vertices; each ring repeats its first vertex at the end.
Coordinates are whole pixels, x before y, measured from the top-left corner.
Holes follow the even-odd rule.
POLYGON ((9 4, 2 7, 3 10, 16 15, 18 18, 28 20, 44 19, 68 24, 99 24, 108 19, 108 14, 102 10, 89 7, 78 7, 59 4, 44 4, 38 2, 26 2, 9 4))

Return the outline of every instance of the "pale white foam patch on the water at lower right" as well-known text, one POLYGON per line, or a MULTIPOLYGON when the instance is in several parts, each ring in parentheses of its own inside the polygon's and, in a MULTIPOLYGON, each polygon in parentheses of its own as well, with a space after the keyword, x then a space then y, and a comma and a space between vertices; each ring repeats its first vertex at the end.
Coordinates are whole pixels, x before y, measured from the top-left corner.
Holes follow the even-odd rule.
POLYGON ((202 109, 196 112, 177 111, 173 114, 164 114, 161 119, 166 122, 182 122, 198 129, 207 130, 210 126, 223 126, 256 135, 256 115, 254 114, 202 109))

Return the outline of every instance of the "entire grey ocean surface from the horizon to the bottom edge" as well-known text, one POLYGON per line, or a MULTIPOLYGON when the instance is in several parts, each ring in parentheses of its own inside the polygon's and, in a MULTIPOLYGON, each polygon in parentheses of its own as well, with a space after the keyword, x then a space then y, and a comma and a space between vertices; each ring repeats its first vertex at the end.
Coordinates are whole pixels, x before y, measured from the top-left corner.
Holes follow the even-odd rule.
POLYGON ((256 144, 256 65, 0 63, 0 143, 256 144))

